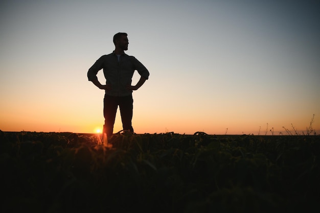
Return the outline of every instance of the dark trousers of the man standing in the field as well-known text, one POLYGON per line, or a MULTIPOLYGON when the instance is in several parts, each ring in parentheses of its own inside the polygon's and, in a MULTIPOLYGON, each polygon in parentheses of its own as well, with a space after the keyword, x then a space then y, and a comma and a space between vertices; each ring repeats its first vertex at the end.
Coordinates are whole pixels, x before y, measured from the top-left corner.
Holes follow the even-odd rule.
POLYGON ((120 109, 123 130, 130 130, 130 132, 133 132, 131 123, 133 113, 132 94, 124 97, 108 96, 105 94, 103 99, 103 131, 107 133, 108 137, 113 134, 113 125, 115 125, 118 106, 120 109))

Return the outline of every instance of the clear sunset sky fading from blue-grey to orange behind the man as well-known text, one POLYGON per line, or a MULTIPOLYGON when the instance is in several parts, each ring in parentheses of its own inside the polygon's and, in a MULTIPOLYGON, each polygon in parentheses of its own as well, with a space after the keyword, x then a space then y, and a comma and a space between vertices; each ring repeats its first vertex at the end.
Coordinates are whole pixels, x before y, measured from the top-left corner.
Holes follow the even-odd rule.
POLYGON ((305 0, 1 1, 0 130, 101 129, 87 71, 126 32, 150 72, 135 133, 320 134, 319 16, 305 0))

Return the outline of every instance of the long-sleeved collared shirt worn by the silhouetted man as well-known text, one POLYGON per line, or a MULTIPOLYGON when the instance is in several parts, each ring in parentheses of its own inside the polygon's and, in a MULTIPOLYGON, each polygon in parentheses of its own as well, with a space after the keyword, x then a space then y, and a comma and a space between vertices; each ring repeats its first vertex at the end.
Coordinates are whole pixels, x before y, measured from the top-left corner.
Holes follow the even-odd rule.
POLYGON ((126 86, 131 85, 135 70, 145 79, 149 78, 148 69, 135 57, 128 56, 127 54, 122 54, 119 61, 114 52, 101 56, 89 68, 87 73, 88 80, 98 79, 97 74, 100 69, 103 69, 106 84, 111 86, 111 90, 106 90, 106 94, 109 96, 129 96, 132 90, 127 90, 126 86))

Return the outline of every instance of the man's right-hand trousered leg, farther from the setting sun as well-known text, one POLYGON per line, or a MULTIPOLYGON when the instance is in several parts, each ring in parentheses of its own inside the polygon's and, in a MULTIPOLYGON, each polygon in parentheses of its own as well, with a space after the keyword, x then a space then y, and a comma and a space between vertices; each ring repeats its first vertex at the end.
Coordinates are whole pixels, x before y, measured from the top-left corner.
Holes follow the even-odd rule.
POLYGON ((133 99, 131 96, 120 97, 120 114, 123 130, 130 130, 133 133, 132 128, 132 114, 133 114, 133 99))

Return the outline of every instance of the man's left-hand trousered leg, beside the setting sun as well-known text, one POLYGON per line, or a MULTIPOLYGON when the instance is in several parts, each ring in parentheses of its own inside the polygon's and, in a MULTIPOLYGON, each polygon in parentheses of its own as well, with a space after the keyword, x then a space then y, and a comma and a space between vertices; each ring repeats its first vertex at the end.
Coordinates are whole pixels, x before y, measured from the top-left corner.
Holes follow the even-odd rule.
POLYGON ((103 131, 107 133, 108 137, 110 137, 113 134, 113 125, 115 125, 117 109, 117 97, 107 96, 105 94, 103 99, 103 131))

